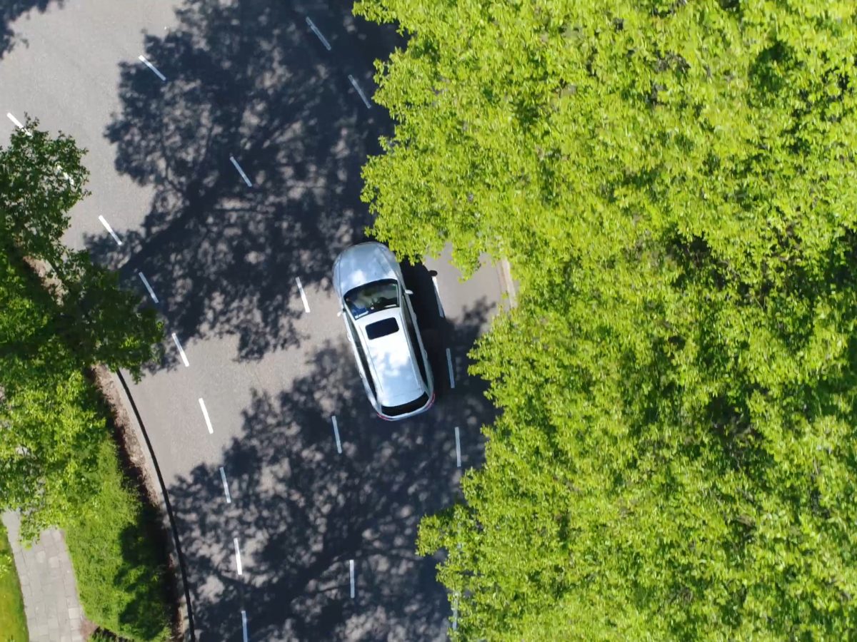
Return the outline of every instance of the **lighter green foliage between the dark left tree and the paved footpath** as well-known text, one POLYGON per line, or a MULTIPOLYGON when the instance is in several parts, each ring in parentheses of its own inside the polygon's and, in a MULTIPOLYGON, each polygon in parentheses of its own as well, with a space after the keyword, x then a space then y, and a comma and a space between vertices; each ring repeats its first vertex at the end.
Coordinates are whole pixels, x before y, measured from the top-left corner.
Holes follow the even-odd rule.
POLYGON ((55 308, 32 273, 0 253, 0 502, 23 512, 27 539, 92 495, 87 471, 107 430, 92 386, 50 330, 55 308), (22 345, 32 348, 21 355, 22 345))

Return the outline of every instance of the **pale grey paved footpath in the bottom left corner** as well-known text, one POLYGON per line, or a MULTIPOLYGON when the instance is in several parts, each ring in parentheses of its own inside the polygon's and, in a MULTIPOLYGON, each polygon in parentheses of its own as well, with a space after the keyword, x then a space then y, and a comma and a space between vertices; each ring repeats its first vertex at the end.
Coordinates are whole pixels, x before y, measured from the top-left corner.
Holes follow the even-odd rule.
POLYGON ((18 515, 4 513, 3 524, 21 580, 30 642, 83 642, 83 609, 63 532, 42 532, 39 541, 26 549, 18 542, 18 515))

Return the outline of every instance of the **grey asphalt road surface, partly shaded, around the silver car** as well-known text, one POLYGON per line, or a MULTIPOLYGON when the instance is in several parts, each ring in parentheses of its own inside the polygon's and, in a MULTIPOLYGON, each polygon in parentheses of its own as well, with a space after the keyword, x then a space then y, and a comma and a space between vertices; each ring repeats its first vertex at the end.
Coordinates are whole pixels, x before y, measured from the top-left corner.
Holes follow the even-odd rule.
MULTIPOLYGON (((177 515, 197 638, 243 639, 243 611, 249 639, 446 639, 438 560, 414 540, 482 458, 493 410, 466 353, 500 305, 497 270, 459 282, 446 256, 405 267, 439 395, 400 423, 365 399, 330 282, 370 223, 360 168, 392 132, 348 76, 371 97, 396 34, 350 2, 40 0, 0 20, 3 115, 28 112, 89 150, 93 194, 66 241, 165 321, 164 358, 131 392, 177 515)), ((5 141, 14 125, 0 120, 5 141)))

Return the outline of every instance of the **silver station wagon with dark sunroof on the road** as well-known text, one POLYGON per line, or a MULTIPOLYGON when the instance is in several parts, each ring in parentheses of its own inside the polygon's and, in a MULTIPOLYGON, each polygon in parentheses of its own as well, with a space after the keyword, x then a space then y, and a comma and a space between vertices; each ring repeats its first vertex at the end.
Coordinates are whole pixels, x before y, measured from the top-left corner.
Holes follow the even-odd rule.
POLYGON ((405 419, 434 403, 434 379, 402 270, 381 243, 349 247, 333 264, 333 288, 369 402, 381 419, 405 419))

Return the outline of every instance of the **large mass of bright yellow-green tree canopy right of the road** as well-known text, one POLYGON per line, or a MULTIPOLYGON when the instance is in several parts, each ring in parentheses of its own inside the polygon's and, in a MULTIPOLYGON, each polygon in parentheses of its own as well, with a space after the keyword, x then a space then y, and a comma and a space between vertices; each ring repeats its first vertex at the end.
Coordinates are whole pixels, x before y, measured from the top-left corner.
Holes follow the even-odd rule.
POLYGON ((857 630, 857 5, 363 0, 374 231, 508 257, 503 410, 423 520, 462 639, 857 630))

